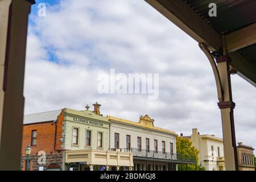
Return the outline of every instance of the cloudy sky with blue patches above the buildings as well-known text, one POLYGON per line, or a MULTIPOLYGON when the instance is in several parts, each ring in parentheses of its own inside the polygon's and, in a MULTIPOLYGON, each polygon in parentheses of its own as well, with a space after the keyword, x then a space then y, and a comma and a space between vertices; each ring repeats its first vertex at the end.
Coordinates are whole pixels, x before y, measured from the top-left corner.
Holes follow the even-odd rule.
MULTIPOLYGON (((255 88, 232 75, 237 142, 256 147, 255 88)), ((101 114, 191 135, 222 137, 220 110, 207 57, 187 34, 138 0, 38 0, 27 39, 25 114, 99 102, 101 114), (38 4, 46 3, 46 16, 38 4), (159 98, 100 94, 101 73, 159 73, 159 98)))

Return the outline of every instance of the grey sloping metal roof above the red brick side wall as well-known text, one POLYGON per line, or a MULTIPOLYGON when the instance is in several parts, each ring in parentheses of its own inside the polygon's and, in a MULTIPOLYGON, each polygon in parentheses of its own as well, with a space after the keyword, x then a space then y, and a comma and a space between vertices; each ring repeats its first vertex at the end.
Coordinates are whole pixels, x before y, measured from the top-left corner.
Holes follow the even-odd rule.
POLYGON ((61 110, 47 111, 43 113, 27 114, 23 117, 23 124, 40 123, 47 121, 56 121, 60 115, 61 110))

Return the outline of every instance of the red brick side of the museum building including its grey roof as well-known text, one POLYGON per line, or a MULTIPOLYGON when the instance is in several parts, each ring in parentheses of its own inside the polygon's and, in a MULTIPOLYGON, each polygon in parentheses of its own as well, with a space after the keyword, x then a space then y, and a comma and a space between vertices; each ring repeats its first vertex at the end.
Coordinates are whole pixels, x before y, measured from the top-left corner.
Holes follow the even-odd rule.
POLYGON ((24 115, 21 169, 26 169, 26 148, 31 146, 30 170, 61 170, 63 110, 24 115), (45 155, 44 155, 45 154, 45 155), (45 160, 44 160, 45 159, 45 160))

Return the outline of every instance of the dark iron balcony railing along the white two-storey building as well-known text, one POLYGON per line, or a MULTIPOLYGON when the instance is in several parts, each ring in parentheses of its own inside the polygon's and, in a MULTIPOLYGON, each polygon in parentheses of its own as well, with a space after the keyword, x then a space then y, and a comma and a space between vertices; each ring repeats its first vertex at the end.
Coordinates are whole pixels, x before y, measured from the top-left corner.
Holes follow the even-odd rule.
POLYGON ((196 163, 196 157, 191 155, 175 154, 171 152, 162 152, 154 150, 146 150, 139 148, 111 148, 112 151, 119 150, 120 152, 131 152, 134 157, 154 158, 165 160, 176 160, 179 162, 196 163))

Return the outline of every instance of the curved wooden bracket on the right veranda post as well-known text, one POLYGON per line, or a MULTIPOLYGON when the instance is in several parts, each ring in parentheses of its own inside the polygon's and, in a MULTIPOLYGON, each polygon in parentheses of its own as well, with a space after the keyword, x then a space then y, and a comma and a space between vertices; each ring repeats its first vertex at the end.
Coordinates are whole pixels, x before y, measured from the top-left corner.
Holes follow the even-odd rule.
POLYGON ((199 47, 205 53, 208 60, 210 61, 210 65, 212 66, 214 78, 215 78, 215 81, 216 81, 218 101, 221 102, 221 101, 223 101, 223 90, 222 90, 222 87, 221 87, 221 79, 220 79, 220 74, 218 73, 217 65, 216 65, 216 63, 213 59, 213 56, 210 54, 210 51, 207 48, 207 46, 205 46, 204 43, 199 43, 199 47))

